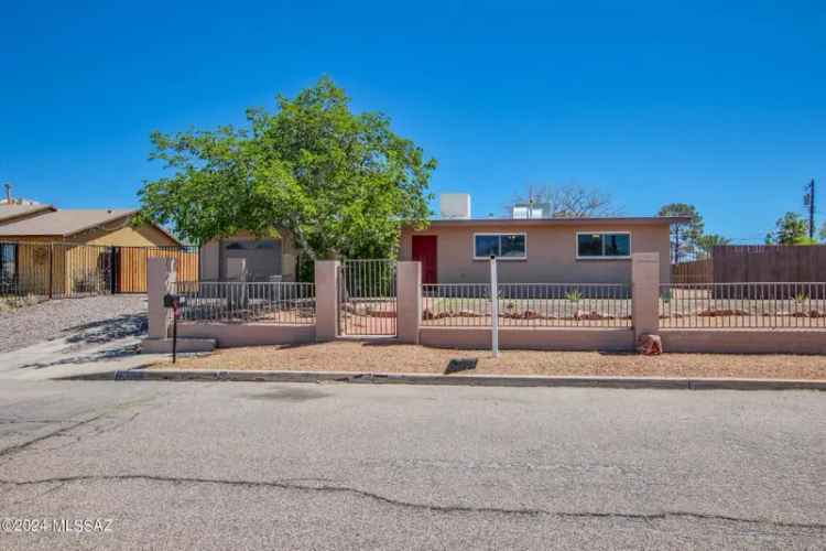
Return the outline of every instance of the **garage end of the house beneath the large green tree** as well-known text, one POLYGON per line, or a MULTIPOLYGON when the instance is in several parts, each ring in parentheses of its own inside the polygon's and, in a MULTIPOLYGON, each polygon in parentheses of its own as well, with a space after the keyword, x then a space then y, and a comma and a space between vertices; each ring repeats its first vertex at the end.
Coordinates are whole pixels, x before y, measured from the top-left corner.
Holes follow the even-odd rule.
POLYGON ((239 233, 213 239, 200 248, 200 280, 295 281, 297 258, 295 244, 287 234, 261 239, 239 233), (239 272, 240 266, 244 273, 239 272))

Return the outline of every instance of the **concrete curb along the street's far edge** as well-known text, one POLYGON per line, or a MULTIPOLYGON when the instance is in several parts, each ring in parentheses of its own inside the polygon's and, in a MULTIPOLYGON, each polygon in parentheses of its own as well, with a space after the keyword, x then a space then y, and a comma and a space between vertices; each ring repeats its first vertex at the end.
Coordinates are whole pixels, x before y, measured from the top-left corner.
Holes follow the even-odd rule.
POLYGON ((355 371, 253 371, 130 369, 65 377, 62 380, 172 380, 250 382, 351 382, 368 385, 452 385, 470 387, 596 387, 683 390, 826 390, 826 380, 706 379, 671 377, 545 377, 541 375, 430 375, 355 371))

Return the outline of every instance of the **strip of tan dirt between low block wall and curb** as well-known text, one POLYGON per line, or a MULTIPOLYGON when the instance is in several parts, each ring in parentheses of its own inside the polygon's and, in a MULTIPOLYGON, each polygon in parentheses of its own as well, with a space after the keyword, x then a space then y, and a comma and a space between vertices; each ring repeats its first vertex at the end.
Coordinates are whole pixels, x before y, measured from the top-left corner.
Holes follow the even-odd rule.
POLYGON ((181 358, 153 368, 272 369, 290 371, 369 371, 442 374, 456 358, 478 358, 474 374, 591 375, 634 377, 733 377, 826 379, 826 357, 722 354, 606 354, 597 352, 454 350, 391 343, 334 342, 303 346, 258 346, 216 350, 209 356, 181 358))

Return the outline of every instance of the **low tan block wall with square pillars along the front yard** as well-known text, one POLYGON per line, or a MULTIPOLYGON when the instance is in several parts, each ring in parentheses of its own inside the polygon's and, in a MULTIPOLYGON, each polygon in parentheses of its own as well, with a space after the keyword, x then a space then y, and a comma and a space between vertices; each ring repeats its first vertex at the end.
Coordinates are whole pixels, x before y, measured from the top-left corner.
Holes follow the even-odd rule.
MULTIPOLYGON (((502 349, 632 352, 640 335, 660 335, 673 353, 826 354, 826 329, 663 328, 660 325, 660 262, 656 252, 632 256, 631 327, 518 327, 499 329, 502 349)), ((667 259, 665 259, 667 261, 667 259)), ((338 335, 339 262, 315 264, 315 324, 178 322, 178 336, 214 338, 219 347, 328 342, 338 335)), ((445 348, 486 349, 490 327, 423 326, 422 268, 400 261, 396 271, 399 343, 445 348)), ((152 258, 148 266, 150 337, 171 335, 163 295, 175 289, 175 259, 152 258)), ((352 338, 352 337, 348 337, 352 338)))

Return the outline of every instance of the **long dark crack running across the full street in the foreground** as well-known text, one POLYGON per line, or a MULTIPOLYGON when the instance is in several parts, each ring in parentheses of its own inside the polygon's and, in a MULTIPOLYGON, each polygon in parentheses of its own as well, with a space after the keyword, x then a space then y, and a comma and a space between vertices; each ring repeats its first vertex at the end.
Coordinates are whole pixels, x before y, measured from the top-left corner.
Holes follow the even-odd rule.
POLYGON ((772 527, 778 529, 805 529, 805 530, 817 530, 826 531, 826 523, 820 522, 785 522, 781 520, 772 520, 764 518, 747 518, 747 517, 733 517, 728 515, 713 515, 695 511, 684 510, 665 510, 659 512, 616 512, 616 511, 554 511, 540 508, 506 508, 506 507, 471 507, 463 505, 435 505, 435 504, 421 504, 414 501, 404 501, 395 499, 381 494, 367 491, 359 488, 349 486, 334 486, 329 484, 322 485, 307 485, 300 484, 297 480, 302 479, 281 479, 281 480, 238 480, 238 479, 225 479, 225 478, 199 478, 199 477, 177 477, 177 476, 157 476, 157 475, 144 475, 144 474, 131 474, 131 475, 78 475, 78 476, 64 476, 64 477, 51 477, 40 478, 32 480, 8 480, 0 479, 1 485, 11 486, 37 486, 42 484, 58 484, 59 487, 64 487, 70 483, 85 483, 85 482, 129 482, 129 480, 146 480, 163 484, 208 484, 208 485, 221 485, 232 487, 244 487, 244 488, 276 488, 285 490, 298 490, 298 491, 312 491, 322 494, 350 494, 361 498, 371 499, 381 504, 391 505, 394 507, 401 507, 405 509, 423 510, 439 514, 493 514, 493 515, 511 515, 511 516, 529 516, 529 517, 557 517, 564 519, 616 519, 616 520, 637 520, 637 521, 657 521, 667 520, 672 518, 683 518, 703 521, 722 521, 722 522, 738 522, 751 526, 763 526, 772 527))

